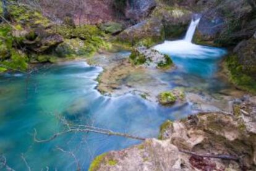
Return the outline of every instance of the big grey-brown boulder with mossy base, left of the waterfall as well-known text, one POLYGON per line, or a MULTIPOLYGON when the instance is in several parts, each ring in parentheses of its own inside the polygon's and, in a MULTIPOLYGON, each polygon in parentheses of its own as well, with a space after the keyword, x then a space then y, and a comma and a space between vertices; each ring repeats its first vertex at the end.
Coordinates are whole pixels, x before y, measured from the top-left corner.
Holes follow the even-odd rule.
POLYGON ((148 47, 160 43, 161 41, 164 41, 163 23, 156 18, 144 20, 143 22, 122 31, 117 36, 117 41, 126 44, 128 43, 132 46, 143 44, 148 47))

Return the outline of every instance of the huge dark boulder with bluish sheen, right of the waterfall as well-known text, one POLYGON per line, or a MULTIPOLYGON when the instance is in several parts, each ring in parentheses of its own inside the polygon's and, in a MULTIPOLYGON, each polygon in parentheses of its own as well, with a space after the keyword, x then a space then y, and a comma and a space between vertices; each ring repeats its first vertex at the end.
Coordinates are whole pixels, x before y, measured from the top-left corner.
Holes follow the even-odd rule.
POLYGON ((254 10, 245 0, 199 1, 202 19, 195 34, 195 43, 234 46, 254 35, 254 10))

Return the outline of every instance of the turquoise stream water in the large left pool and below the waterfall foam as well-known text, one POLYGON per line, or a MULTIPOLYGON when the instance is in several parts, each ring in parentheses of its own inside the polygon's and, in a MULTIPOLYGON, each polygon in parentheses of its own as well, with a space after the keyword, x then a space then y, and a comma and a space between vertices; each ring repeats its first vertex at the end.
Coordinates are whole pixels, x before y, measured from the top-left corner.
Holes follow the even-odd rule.
MULTIPOLYGON (((195 58, 195 54, 184 57, 170 52, 177 69, 158 76, 170 88, 208 83, 208 89, 218 91, 224 85, 213 75, 224 51, 213 51, 219 54, 207 52, 195 58)), ((63 117, 73 124, 153 138, 158 136, 164 120, 176 120, 192 113, 189 104, 168 108, 132 94, 102 96, 95 90, 95 79, 101 72, 100 67, 85 62, 68 62, 42 68, 29 78, 18 73, 0 76, 0 154, 6 157, 10 167, 26 170, 23 155, 32 170, 76 170, 75 160, 80 169, 87 170, 95 156, 140 143, 96 133, 71 133, 49 143, 33 141, 34 129, 42 139, 63 130, 60 121, 63 117)))

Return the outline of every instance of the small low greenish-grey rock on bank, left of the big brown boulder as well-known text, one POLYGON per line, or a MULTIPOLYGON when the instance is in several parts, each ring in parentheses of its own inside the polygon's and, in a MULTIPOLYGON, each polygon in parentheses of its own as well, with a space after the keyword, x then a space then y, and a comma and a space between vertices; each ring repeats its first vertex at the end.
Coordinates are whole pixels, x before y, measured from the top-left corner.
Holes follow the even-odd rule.
POLYGON ((111 35, 116 35, 124 30, 124 25, 116 22, 106 22, 100 24, 100 29, 111 35))

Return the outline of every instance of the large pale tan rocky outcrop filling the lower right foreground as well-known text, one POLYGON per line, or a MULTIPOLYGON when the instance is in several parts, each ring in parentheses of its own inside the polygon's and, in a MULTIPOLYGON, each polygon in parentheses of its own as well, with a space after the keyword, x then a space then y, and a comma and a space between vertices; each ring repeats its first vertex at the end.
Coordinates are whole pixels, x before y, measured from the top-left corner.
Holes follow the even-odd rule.
POLYGON ((96 158, 90 170, 255 170, 255 98, 234 105, 233 114, 198 114, 161 126, 161 140, 146 140, 96 158), (239 161, 196 154, 226 154, 239 161))

